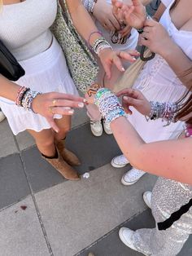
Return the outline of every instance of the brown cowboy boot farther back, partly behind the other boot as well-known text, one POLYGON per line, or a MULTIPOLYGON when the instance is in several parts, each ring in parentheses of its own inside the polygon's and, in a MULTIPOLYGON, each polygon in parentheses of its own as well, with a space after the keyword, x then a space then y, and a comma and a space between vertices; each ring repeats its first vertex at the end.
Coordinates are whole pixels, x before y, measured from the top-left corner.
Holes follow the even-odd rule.
POLYGON ((63 160, 67 161, 70 166, 81 165, 81 161, 78 159, 78 157, 76 157, 73 152, 69 151, 67 148, 64 147, 64 139, 56 141, 55 144, 59 151, 59 154, 63 157, 63 160))

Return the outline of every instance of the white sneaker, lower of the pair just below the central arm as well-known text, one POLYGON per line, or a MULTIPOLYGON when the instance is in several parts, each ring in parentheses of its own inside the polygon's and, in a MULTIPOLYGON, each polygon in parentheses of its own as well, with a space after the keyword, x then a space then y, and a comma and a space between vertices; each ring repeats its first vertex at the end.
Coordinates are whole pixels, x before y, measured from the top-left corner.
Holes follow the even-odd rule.
POLYGON ((126 174, 124 174, 121 179, 121 183, 123 183, 125 186, 133 185, 134 183, 137 183, 137 181, 141 179, 144 174, 145 171, 132 168, 126 172, 126 174))

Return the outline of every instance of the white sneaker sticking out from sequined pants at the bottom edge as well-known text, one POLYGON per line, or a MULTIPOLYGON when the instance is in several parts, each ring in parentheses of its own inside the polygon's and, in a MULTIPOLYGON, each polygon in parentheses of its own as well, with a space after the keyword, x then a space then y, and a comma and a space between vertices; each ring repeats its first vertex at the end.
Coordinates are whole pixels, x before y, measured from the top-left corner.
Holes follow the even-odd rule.
MULTIPOLYGON (((137 248, 133 245, 134 233, 135 232, 133 230, 127 227, 121 227, 119 231, 119 236, 120 236, 120 240, 124 243, 124 245, 127 245, 130 249, 134 249, 138 251, 137 248)), ((144 254, 144 255, 148 256, 147 254, 144 254)))

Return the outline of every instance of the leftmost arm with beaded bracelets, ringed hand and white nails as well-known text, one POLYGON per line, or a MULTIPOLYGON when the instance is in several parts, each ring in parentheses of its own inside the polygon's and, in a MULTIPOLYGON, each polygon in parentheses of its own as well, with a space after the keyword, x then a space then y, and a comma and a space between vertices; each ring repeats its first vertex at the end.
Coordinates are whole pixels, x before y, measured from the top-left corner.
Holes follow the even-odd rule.
POLYGON ((81 97, 58 92, 41 94, 41 92, 11 82, 2 75, 0 75, 0 85, 1 97, 15 102, 18 108, 24 108, 26 111, 33 111, 46 117, 56 132, 59 128, 55 124, 54 115, 72 115, 74 113, 72 108, 83 108, 86 102, 81 97))

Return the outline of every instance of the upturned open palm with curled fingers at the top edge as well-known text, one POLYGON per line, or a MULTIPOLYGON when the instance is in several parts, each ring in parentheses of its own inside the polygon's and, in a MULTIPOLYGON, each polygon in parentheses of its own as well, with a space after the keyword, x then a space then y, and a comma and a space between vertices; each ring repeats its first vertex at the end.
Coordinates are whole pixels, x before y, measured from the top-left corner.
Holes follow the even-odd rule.
POLYGON ((141 29, 146 20, 146 8, 139 0, 132 0, 132 4, 124 4, 118 0, 112 0, 113 12, 118 20, 124 20, 126 24, 141 29))

